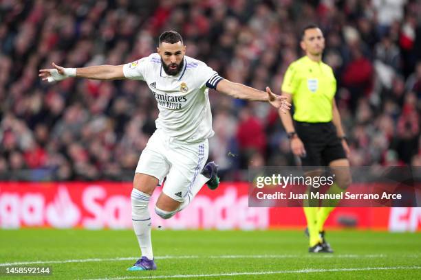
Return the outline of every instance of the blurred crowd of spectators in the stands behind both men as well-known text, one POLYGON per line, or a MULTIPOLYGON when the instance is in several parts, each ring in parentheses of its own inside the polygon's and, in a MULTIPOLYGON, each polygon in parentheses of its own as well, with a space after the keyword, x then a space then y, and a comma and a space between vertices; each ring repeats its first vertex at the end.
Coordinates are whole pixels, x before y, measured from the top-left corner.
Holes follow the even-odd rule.
MULTIPOLYGON (((352 165, 421 166, 421 3, 410 0, 0 1, 0 178, 131 180, 158 109, 144 82, 39 69, 120 65, 155 51, 164 30, 220 75, 280 93, 317 23, 352 165)), ((277 111, 210 91, 209 160, 225 180, 248 166, 294 165, 277 111)))

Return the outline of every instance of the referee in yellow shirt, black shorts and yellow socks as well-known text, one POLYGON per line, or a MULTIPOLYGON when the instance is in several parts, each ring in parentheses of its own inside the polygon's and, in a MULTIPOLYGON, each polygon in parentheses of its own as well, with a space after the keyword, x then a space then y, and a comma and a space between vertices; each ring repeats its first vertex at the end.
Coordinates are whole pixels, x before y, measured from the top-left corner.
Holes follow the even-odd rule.
MULTIPOLYGON (((320 28, 307 25, 301 34, 300 45, 305 56, 291 63, 282 84, 283 95, 294 104, 294 121, 289 112, 279 116, 288 133, 292 152, 301 158, 301 165, 307 167, 305 170, 311 171, 306 175, 314 176, 314 172, 321 170, 316 167, 330 166, 336 182, 327 192, 340 193, 351 183, 347 160, 349 147, 334 100, 334 73, 321 60, 325 38, 320 28)), ((323 224, 334 207, 303 209, 310 237, 309 252, 333 253, 325 240, 323 224)))

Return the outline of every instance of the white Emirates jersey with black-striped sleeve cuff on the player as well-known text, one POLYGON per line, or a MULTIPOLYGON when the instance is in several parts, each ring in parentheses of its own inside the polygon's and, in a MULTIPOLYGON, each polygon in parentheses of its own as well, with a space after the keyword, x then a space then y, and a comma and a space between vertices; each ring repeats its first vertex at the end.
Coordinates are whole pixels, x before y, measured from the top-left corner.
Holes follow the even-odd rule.
POLYGON ((184 56, 183 69, 171 76, 155 53, 127 63, 123 73, 126 78, 147 82, 160 110, 156 127, 166 135, 188 143, 213 136, 208 88, 215 89, 222 78, 204 62, 184 56))

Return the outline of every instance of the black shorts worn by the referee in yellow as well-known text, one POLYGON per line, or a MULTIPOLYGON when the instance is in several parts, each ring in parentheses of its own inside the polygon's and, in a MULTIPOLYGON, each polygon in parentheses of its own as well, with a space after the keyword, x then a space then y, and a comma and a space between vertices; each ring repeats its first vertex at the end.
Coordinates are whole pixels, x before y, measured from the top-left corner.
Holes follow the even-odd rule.
POLYGON ((331 161, 347 158, 332 121, 327 123, 296 121, 295 129, 307 153, 301 157, 302 166, 327 166, 331 161))

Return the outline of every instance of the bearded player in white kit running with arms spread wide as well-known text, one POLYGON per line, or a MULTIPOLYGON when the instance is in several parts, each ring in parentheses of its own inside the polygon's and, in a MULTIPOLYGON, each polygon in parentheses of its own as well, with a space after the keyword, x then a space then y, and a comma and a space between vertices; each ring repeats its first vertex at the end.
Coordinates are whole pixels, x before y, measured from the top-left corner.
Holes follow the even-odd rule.
POLYGON ((155 270, 151 244, 149 199, 166 177, 155 205, 155 213, 169 219, 184 209, 207 183, 219 184, 217 165, 208 158, 208 138, 212 137, 212 115, 208 89, 244 100, 269 102, 287 112, 287 97, 274 95, 267 87, 258 91, 220 77, 204 62, 185 55, 180 34, 166 31, 160 35, 157 53, 126 65, 100 65, 83 68, 40 70, 42 80, 60 81, 68 77, 96 80, 134 79, 147 82, 160 111, 157 130, 140 155, 131 192, 133 229, 142 257, 128 270, 155 270), (201 172, 202 171, 202 172, 201 172))

